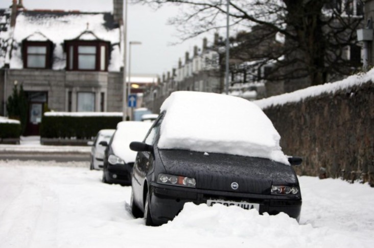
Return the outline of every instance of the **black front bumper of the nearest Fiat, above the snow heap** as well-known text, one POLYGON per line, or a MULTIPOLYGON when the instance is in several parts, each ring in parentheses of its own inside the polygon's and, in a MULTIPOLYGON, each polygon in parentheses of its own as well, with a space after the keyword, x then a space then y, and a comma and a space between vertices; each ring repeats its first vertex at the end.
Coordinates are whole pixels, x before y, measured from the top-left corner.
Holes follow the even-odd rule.
POLYGON ((246 201, 260 204, 260 214, 267 212, 271 215, 284 212, 299 220, 301 198, 254 195, 238 192, 203 190, 178 186, 151 184, 151 216, 154 224, 162 225, 172 220, 182 209, 184 203, 206 203, 207 200, 246 201))

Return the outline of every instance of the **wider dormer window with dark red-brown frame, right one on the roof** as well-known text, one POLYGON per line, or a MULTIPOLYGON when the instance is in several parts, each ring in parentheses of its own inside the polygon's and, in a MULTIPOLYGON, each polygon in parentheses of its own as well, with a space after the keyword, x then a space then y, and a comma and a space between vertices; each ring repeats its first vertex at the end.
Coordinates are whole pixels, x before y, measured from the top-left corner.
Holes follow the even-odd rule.
POLYGON ((107 71, 109 45, 106 41, 65 41, 67 70, 107 71))

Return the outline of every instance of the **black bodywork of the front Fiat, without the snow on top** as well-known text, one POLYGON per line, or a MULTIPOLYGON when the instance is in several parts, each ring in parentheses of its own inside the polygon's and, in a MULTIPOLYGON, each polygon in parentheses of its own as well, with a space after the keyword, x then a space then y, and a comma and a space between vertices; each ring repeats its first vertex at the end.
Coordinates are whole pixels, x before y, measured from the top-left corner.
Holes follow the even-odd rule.
MULTIPOLYGON (((237 205, 260 213, 285 212, 299 219, 301 194, 291 166, 266 158, 158 149, 163 114, 145 142, 132 142, 138 151, 132 171, 130 206, 146 225, 172 220, 184 203, 237 205), (150 137, 153 136, 153 137, 150 137)), ((299 164, 300 158, 289 158, 299 164)))

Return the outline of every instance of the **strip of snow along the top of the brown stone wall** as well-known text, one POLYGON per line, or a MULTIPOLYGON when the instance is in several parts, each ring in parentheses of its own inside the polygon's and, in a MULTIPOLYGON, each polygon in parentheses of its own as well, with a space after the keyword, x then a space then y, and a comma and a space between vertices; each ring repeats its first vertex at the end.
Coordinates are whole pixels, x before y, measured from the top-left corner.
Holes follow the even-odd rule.
POLYGON ((339 90, 344 90, 355 85, 364 84, 367 81, 373 80, 374 78, 374 69, 371 69, 367 73, 359 73, 353 76, 349 76, 341 81, 337 82, 328 82, 324 85, 312 86, 306 89, 294 91, 291 93, 286 93, 278 96, 272 96, 265 99, 260 99, 253 101, 262 109, 276 106, 276 105, 283 105, 290 102, 298 102, 302 101, 308 97, 314 97, 321 95, 323 93, 335 93, 339 90))

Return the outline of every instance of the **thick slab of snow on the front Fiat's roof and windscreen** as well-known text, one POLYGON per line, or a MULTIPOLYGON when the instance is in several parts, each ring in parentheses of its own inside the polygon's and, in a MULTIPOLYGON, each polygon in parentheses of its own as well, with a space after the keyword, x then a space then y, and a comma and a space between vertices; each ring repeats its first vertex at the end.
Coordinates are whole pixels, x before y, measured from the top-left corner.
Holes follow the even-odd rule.
POLYGON ((166 111, 160 149, 268 158, 289 164, 281 136, 256 104, 216 93, 179 91, 161 105, 166 111))

